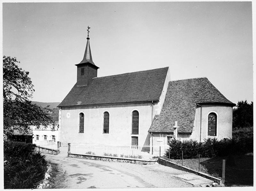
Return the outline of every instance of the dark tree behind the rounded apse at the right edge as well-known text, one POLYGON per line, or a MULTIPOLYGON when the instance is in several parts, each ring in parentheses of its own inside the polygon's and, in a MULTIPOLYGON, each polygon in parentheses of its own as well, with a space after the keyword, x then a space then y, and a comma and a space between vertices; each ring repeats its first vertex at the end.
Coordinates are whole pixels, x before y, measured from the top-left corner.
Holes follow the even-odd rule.
POLYGON ((253 102, 239 101, 233 109, 233 127, 243 128, 253 126, 253 102))

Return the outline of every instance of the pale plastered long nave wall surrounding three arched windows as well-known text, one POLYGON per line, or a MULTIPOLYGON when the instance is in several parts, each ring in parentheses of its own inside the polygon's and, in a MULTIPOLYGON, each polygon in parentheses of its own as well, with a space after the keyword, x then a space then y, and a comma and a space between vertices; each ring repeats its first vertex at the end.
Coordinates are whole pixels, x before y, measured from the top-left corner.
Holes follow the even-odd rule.
POLYGON ((131 145, 138 136, 139 146, 149 145, 152 103, 119 104, 109 106, 80 106, 62 108, 59 116, 61 145, 131 145), (132 111, 139 112, 139 134, 132 133, 132 111), (109 134, 103 134, 103 113, 109 113, 109 134), (78 133, 79 113, 84 113, 84 133, 78 133), (67 117, 69 116, 69 117, 67 117))

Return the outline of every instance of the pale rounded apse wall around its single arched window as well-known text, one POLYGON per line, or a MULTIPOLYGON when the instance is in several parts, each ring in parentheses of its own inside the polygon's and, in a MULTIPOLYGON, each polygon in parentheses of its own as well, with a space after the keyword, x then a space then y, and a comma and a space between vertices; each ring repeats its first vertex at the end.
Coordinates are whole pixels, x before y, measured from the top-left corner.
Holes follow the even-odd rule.
MULTIPOLYGON (((232 137, 232 107, 225 105, 202 105, 202 127, 201 127, 201 141, 209 137, 217 139, 232 137), (210 113, 217 115, 217 135, 208 136, 208 115, 210 113)), ((200 140, 200 118, 201 108, 196 108, 194 129, 190 136, 191 139, 200 140)))

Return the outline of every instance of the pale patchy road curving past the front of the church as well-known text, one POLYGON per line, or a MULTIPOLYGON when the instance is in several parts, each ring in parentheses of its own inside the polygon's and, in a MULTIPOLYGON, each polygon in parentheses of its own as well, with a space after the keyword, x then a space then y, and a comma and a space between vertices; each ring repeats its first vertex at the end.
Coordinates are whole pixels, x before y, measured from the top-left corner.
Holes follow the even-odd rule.
POLYGON ((65 148, 59 155, 45 156, 66 171, 62 188, 192 187, 173 177, 186 172, 157 163, 141 165, 68 158, 65 148))

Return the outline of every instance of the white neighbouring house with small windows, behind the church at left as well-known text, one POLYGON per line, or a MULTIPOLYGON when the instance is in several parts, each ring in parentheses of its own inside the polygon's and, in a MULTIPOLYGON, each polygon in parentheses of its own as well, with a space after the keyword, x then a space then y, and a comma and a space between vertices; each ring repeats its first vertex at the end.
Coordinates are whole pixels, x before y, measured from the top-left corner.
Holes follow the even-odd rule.
POLYGON ((59 109, 58 108, 52 108, 52 118, 55 122, 55 126, 49 125, 49 126, 32 126, 33 129, 33 143, 39 142, 39 141, 52 141, 57 142, 59 141, 59 131, 58 131, 58 123, 59 123, 59 109))

